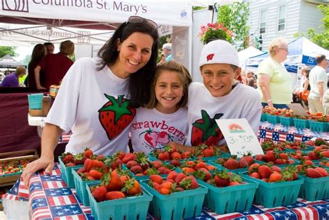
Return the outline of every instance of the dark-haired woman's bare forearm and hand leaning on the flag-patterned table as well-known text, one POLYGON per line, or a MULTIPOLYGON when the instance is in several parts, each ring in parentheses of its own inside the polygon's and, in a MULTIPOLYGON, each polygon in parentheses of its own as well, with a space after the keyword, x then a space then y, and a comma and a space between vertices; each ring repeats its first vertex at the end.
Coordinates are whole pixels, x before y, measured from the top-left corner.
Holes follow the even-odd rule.
POLYGON ((53 151, 58 144, 58 139, 62 129, 53 124, 46 124, 42 130, 41 139, 41 157, 26 165, 22 178, 26 187, 28 187, 31 176, 40 169, 44 169, 45 174, 51 174, 53 169, 53 151))

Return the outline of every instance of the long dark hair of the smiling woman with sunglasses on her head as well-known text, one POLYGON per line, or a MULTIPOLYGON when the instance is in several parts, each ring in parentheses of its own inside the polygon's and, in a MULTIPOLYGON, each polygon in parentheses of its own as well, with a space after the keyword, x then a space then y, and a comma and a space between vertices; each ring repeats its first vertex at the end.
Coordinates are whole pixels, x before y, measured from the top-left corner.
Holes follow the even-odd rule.
POLYGON ((124 42, 135 32, 145 33, 153 38, 151 57, 144 67, 129 76, 130 105, 137 108, 149 102, 151 84, 158 59, 158 30, 146 22, 125 22, 117 28, 110 40, 99 50, 101 58, 98 70, 107 65, 113 65, 119 56, 117 51, 117 40, 124 42))

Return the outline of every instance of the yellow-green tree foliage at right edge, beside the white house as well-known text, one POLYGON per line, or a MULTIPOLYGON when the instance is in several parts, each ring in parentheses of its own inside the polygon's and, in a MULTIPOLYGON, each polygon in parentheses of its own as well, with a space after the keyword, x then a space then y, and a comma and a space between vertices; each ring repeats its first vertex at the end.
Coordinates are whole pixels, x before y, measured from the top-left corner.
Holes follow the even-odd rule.
POLYGON ((322 46, 324 49, 329 49, 329 5, 318 6, 319 10, 323 14, 323 25, 320 26, 320 28, 323 28, 323 32, 315 31, 313 28, 309 28, 307 30, 307 37, 314 42, 315 44, 318 44, 319 46, 322 46))

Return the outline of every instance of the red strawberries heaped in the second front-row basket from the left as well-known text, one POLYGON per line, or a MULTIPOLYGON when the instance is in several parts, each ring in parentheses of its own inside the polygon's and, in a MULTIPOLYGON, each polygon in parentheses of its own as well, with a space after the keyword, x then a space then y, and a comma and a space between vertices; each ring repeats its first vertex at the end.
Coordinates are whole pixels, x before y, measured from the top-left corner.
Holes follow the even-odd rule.
POLYGON ((196 189, 199 183, 194 176, 187 176, 184 173, 171 171, 166 179, 159 175, 151 175, 149 178, 149 186, 153 187, 160 194, 171 194, 174 192, 183 192, 188 189, 196 189))

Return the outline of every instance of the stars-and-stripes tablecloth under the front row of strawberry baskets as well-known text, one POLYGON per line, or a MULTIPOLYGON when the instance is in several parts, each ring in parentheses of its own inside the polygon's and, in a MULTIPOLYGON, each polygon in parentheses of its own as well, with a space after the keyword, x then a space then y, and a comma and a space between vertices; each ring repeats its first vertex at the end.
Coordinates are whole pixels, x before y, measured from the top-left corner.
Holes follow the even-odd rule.
MULTIPOLYGON (((89 207, 84 206, 76 197, 75 189, 69 189, 63 182, 59 164, 56 164, 52 174, 45 176, 42 171, 31 178, 30 189, 24 186, 21 180, 3 195, 3 208, 10 210, 10 201, 24 201, 28 203, 30 219, 94 219, 89 207)), ((22 209, 22 206, 20 207, 22 209)), ((6 212, 7 212, 6 211, 6 212)), ((22 210, 21 210, 22 211, 22 210)), ((28 213, 28 212, 26 212, 28 213)), ((10 218, 10 216, 9 216, 10 218)), ((28 217, 25 216, 25 219, 28 217)), ((23 219, 24 219, 23 218, 23 219)), ((157 219, 149 216, 148 219, 157 219)), ((193 219, 329 219, 329 199, 326 201, 305 201, 298 198, 293 205, 278 208, 264 208, 262 205, 253 205, 246 212, 233 212, 229 214, 217 214, 203 208, 201 216, 193 219)), ((15 219, 16 220, 16 219, 15 219)))

